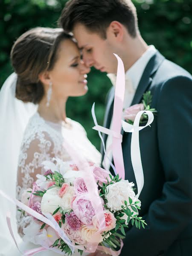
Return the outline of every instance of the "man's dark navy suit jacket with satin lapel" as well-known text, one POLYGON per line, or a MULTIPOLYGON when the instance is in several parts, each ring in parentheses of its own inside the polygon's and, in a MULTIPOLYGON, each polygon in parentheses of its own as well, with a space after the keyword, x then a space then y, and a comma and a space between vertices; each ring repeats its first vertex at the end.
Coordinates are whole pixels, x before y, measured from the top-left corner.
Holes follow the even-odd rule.
MULTIPOLYGON (((192 255, 192 76, 158 51, 149 60, 131 105, 150 90, 157 110, 151 128, 140 131, 144 187, 139 212, 148 224, 131 227, 122 256, 192 255)), ((108 94, 104 126, 109 128, 114 88, 108 94)), ((107 135, 104 135, 106 142, 107 135)), ((131 134, 123 133, 125 179, 136 184, 131 134)), ((103 153, 103 152, 102 152, 103 153)), ((136 186, 137 187, 137 186, 136 186)))

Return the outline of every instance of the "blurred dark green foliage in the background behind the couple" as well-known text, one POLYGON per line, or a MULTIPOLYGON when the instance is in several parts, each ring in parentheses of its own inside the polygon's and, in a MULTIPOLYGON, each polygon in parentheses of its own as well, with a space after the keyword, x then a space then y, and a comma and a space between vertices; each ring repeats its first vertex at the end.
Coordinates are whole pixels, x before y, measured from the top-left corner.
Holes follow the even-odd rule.
MULTIPOLYGON (((0 1, 0 87, 12 73, 9 53, 15 39, 35 26, 56 27, 67 0, 0 1)), ((192 0, 133 0, 137 8, 141 35, 171 61, 192 73, 192 0)), ((89 139, 99 148, 100 139, 92 130, 91 106, 102 124, 105 97, 111 82, 104 73, 92 69, 89 92, 67 102, 67 116, 80 122, 89 139)))

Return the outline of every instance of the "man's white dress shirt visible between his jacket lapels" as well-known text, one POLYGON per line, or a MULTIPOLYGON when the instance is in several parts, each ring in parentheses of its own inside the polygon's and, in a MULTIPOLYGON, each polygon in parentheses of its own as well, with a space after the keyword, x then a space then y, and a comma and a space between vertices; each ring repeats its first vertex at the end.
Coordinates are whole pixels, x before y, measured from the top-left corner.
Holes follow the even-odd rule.
MULTIPOLYGON (((150 58, 154 55, 154 53, 157 50, 153 45, 150 45, 148 49, 143 53, 143 55, 127 70, 125 73, 125 95, 124 95, 124 101, 123 101, 123 109, 127 109, 130 107, 131 102, 134 98, 135 92, 137 90, 137 87, 139 85, 140 79, 143 75, 143 72, 145 70, 146 65, 148 64, 148 61, 150 58)), ((108 74, 108 78, 111 80, 111 83, 113 86, 116 85, 116 75, 115 74, 108 74)), ((123 119, 123 113, 122 113, 122 119, 123 119)), ((111 119, 111 125, 112 126, 112 119, 111 119)), ((108 135, 107 141, 106 141, 106 152, 110 160, 112 160, 112 136, 108 135)), ((104 158, 102 165, 105 169, 110 168, 110 162, 107 159, 107 157, 104 158)))

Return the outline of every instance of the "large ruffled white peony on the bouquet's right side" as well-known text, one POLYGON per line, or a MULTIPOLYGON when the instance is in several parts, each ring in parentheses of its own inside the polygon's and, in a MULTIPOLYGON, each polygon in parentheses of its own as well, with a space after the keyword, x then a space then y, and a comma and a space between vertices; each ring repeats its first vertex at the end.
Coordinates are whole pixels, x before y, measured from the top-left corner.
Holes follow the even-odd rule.
POLYGON ((120 180, 107 186, 108 194, 105 198, 108 200, 107 206, 111 211, 121 210, 121 206, 125 205, 125 201, 129 203, 129 197, 133 199, 135 193, 133 191, 134 183, 129 183, 128 180, 120 180))

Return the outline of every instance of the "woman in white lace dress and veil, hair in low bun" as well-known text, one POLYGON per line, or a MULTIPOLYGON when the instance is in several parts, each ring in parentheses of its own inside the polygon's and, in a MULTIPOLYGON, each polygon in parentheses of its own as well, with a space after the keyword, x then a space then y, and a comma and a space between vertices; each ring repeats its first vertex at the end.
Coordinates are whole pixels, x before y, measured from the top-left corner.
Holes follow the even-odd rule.
MULTIPOLYGON (((32 188, 36 175, 44 173, 41 165, 44 160, 52 160, 53 157, 70 160, 63 146, 65 138, 73 139, 73 147, 77 147, 89 161, 100 164, 101 155, 87 139, 84 128, 66 116, 68 97, 87 93, 86 77, 90 71, 81 60, 71 35, 62 29, 31 29, 15 41, 11 61, 15 73, 9 76, 0 92, 1 118, 9 122, 8 130, 0 131, 3 135, 0 160, 4 163, 0 189, 13 197, 16 190, 16 197, 21 200, 22 192, 32 188), (8 117, 8 113, 12 117, 8 117), (4 157, 8 149, 9 159, 4 157)), ((8 207, 14 215, 13 207, 2 200, 5 206, 0 212, 0 246, 3 252, 0 256, 20 255, 10 250, 14 247, 11 247, 4 216, 8 207)), ((27 216, 17 211, 17 227, 21 235, 28 221, 27 216)), ((22 246, 25 247, 23 243, 19 247, 22 246)), ((59 254, 46 251, 38 255, 59 254)))

